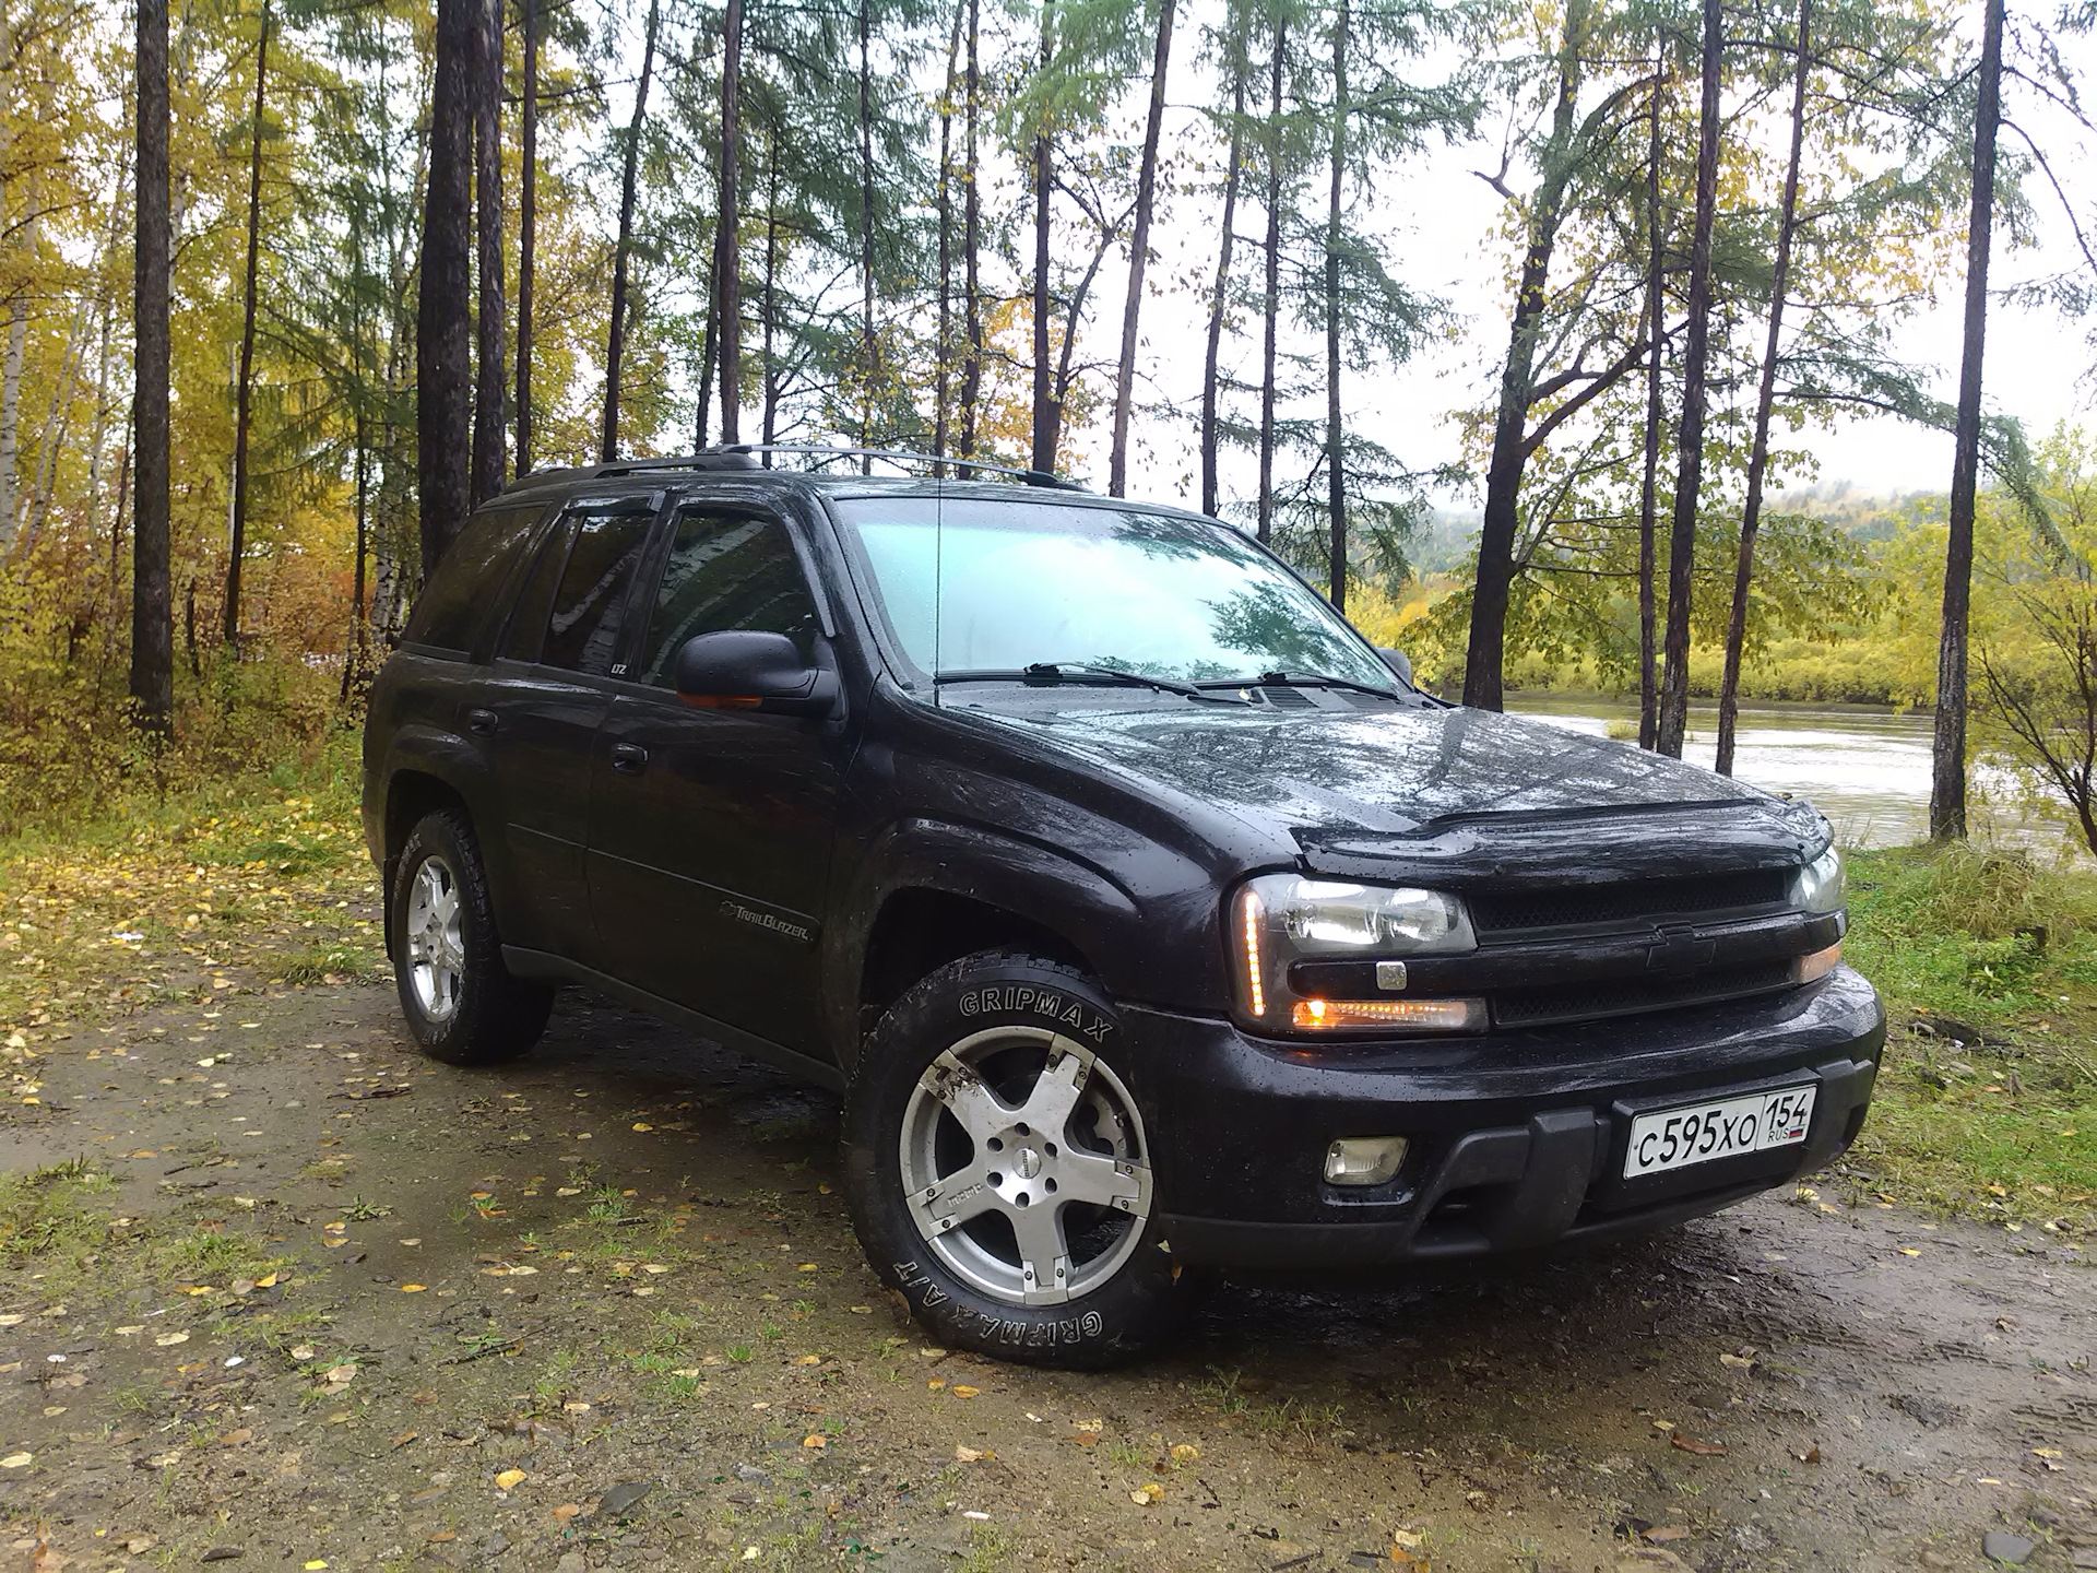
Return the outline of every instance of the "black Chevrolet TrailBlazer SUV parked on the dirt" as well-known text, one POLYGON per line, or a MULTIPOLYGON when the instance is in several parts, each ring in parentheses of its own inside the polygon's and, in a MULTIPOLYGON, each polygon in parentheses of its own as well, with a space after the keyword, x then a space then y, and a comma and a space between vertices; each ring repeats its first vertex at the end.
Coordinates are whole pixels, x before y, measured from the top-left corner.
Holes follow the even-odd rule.
POLYGON ((749 451, 531 476, 371 692, 428 1053, 585 984, 845 1099, 950 1344, 1101 1365, 1181 1267, 1453 1260, 1826 1164, 1885 1015, 1806 803, 1418 692, 1235 529, 749 451))

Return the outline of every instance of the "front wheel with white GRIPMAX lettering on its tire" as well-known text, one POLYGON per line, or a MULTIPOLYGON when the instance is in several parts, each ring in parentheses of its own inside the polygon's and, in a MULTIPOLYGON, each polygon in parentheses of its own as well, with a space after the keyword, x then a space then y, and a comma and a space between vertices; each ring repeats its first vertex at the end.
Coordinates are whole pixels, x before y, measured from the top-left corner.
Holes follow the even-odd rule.
POLYGON ((1130 1361, 1179 1309, 1114 1003, 986 950, 881 1017, 845 1095, 845 1193, 874 1271, 948 1346, 1130 1361))

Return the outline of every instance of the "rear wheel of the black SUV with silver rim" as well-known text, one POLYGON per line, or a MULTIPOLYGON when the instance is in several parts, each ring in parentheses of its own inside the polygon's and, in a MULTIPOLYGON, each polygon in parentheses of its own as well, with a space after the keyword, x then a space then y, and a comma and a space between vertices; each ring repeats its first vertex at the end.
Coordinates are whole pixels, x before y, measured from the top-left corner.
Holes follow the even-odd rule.
POLYGON ((390 902, 401 1013, 426 1055, 497 1065, 539 1042, 554 990, 503 965, 480 843, 463 814, 421 816, 394 864, 390 902))

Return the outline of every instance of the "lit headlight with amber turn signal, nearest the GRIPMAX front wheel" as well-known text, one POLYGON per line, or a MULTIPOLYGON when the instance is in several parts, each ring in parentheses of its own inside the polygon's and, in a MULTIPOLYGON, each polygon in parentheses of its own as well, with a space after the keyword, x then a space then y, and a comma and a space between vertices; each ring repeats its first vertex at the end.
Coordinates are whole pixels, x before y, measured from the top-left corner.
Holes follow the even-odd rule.
POLYGON ((1260 875, 1231 900, 1231 948, 1239 1011, 1271 1032, 1388 1036, 1485 1026, 1485 1000, 1390 998, 1405 988, 1401 956, 1478 948, 1464 902, 1443 891, 1260 875), (1365 973, 1361 998, 1321 998, 1292 986, 1290 967, 1298 961, 1382 965, 1365 973))

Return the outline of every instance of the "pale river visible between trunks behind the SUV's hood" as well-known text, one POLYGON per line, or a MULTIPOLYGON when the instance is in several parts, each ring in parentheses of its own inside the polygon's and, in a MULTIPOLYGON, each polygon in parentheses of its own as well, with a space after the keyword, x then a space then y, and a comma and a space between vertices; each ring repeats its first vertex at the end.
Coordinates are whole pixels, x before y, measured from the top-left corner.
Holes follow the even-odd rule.
MULTIPOLYGON (((1556 726, 1606 736, 1638 732, 1638 703, 1596 694, 1522 692, 1508 709, 1556 726)), ((1717 747, 1717 707, 1692 705, 1688 742, 1692 763, 1711 766, 1717 747)), ((1881 711, 1858 705, 1743 705, 1734 774, 1772 793, 1812 799, 1829 816, 1845 847, 1898 847, 1929 835, 1929 713, 1881 711)), ((2034 849, 2063 849, 2063 831, 2017 812, 2015 782, 2003 770, 1975 766, 1980 797, 1973 828, 2034 849)))

